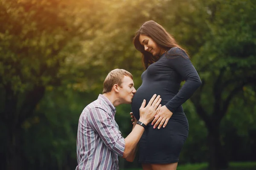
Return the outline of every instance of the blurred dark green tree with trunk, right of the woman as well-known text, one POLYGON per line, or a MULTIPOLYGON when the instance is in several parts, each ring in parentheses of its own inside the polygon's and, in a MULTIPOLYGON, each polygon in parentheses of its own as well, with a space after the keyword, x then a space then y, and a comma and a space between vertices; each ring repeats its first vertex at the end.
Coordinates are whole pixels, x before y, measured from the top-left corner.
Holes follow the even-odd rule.
POLYGON ((252 1, 211 1, 206 42, 193 61, 202 79, 191 101, 208 130, 212 170, 228 166, 223 152, 220 125, 230 102, 246 86, 256 82, 256 26, 252 1))

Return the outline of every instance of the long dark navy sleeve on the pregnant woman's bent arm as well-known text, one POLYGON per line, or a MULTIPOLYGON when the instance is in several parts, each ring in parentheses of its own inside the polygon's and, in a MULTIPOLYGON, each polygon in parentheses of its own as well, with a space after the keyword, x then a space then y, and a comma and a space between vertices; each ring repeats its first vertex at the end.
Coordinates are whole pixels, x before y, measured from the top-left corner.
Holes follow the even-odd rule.
POLYGON ((166 104, 166 108, 173 113, 198 89, 201 79, 187 54, 180 48, 172 48, 167 52, 167 65, 186 81, 179 92, 166 104))

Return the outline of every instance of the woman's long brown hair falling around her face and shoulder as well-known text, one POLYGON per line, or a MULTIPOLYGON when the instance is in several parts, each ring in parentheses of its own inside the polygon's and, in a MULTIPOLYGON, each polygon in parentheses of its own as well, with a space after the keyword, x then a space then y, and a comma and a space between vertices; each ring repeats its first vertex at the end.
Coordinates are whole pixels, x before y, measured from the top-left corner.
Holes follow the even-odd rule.
POLYGON ((177 47, 182 49, 187 54, 186 50, 181 48, 172 35, 170 35, 162 26, 153 20, 147 21, 143 23, 140 29, 136 32, 133 40, 135 48, 142 53, 142 60, 145 69, 147 69, 152 63, 157 62, 159 57, 153 56, 150 52, 145 51, 144 46, 141 45, 139 41, 140 34, 152 38, 152 40, 154 40, 158 46, 165 50, 177 47))

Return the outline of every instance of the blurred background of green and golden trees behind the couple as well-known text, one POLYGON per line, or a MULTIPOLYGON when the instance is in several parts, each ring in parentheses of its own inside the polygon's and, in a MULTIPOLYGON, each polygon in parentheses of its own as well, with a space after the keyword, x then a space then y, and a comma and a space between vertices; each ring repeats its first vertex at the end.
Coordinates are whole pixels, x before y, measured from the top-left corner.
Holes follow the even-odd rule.
MULTIPOLYGON (((256 0, 0 0, 1 169, 75 169, 79 116, 108 72, 141 85, 132 39, 147 20, 187 49, 202 80, 183 104, 177 170, 256 169, 256 0)), ((117 107, 124 137, 130 111, 117 107)), ((141 170, 137 160, 120 169, 141 170)))

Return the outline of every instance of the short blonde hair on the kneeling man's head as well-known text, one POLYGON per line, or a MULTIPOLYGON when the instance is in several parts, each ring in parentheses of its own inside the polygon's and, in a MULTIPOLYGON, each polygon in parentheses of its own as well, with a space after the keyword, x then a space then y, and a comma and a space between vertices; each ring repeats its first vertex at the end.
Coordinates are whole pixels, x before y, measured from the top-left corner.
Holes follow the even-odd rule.
POLYGON ((102 94, 111 92, 113 85, 117 84, 122 88, 122 80, 125 76, 130 77, 133 79, 131 73, 124 69, 114 69, 111 72, 108 73, 108 76, 105 78, 103 83, 103 92, 102 94))

